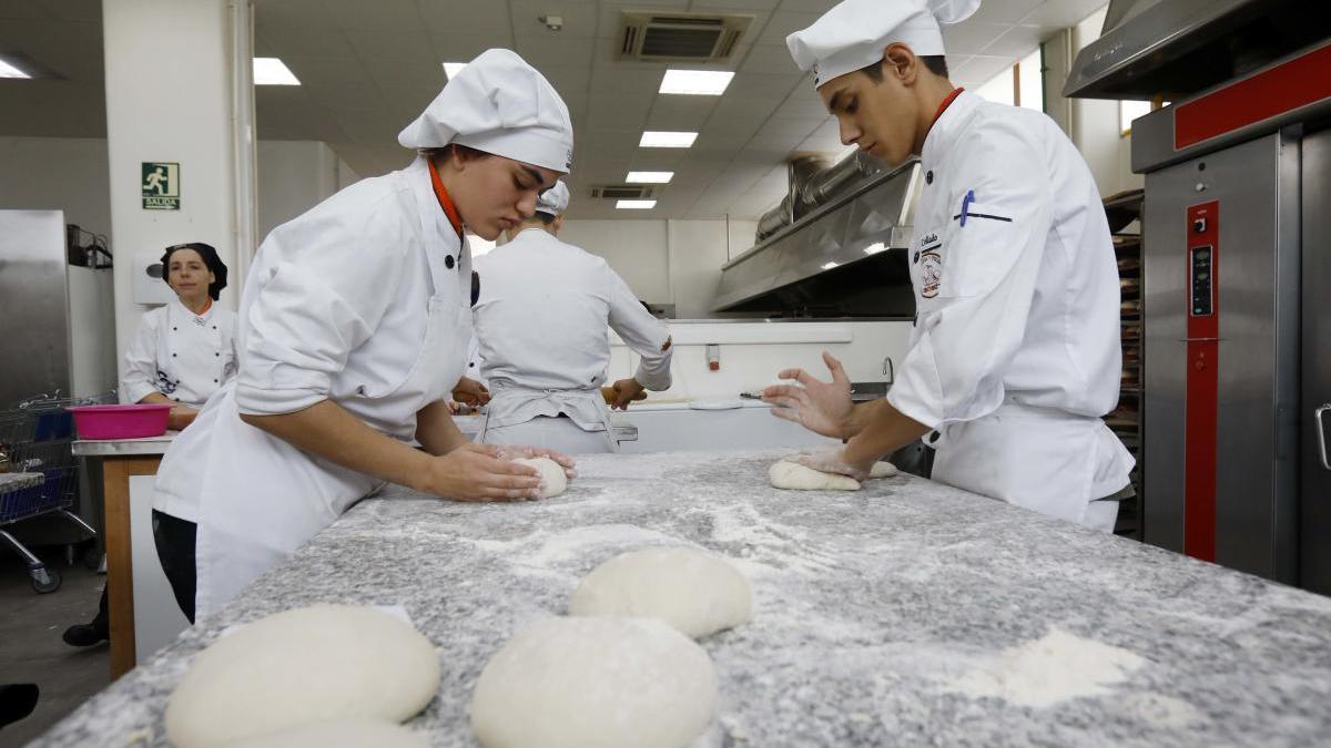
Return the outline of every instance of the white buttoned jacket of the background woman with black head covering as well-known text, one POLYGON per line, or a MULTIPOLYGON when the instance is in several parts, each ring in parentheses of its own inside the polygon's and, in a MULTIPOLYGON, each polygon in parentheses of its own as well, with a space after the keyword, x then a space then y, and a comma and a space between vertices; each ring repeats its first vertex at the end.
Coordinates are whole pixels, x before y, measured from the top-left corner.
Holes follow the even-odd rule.
POLYGON ((236 375, 236 313, 213 302, 202 314, 178 298, 144 313, 125 350, 120 401, 136 403, 152 393, 204 407, 209 395, 236 375))

